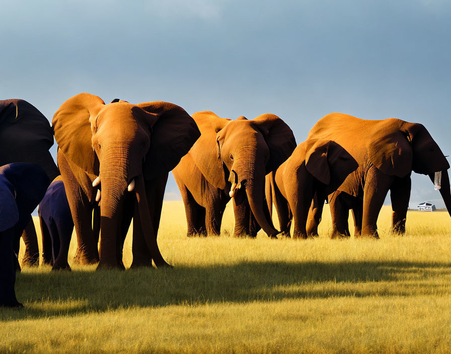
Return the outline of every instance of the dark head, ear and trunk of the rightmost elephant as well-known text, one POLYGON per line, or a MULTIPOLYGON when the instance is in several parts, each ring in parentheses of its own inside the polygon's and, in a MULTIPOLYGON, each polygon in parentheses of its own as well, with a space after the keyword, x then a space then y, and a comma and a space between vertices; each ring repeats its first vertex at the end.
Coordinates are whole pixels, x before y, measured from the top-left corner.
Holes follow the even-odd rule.
POLYGON ((391 123, 384 136, 374 135, 369 144, 371 162, 384 173, 403 177, 412 170, 427 174, 432 182, 441 175, 440 194, 451 216, 451 192, 447 169, 449 163, 427 129, 419 123, 387 119, 391 123), (395 123, 395 124, 393 124, 395 123))

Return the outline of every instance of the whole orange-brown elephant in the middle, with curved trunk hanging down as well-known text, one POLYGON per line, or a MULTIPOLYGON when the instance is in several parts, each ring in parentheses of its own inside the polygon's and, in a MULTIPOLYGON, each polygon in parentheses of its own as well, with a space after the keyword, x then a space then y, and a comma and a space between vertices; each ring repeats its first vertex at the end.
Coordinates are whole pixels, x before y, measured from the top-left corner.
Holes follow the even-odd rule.
POLYGON ((219 235, 225 205, 233 198, 235 236, 255 237, 261 227, 276 237, 264 201, 265 175, 296 147, 291 129, 273 114, 230 120, 203 111, 192 117, 201 136, 173 170, 188 236, 219 235))

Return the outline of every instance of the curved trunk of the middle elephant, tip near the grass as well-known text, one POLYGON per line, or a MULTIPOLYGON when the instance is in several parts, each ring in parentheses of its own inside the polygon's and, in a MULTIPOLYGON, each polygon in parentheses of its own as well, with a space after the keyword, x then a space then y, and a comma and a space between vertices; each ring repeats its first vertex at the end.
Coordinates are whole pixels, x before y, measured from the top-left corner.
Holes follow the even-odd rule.
MULTIPOLYGON (((246 196, 255 219, 269 237, 276 237, 279 231, 268 220, 269 215, 264 210, 264 207, 266 207, 266 202, 263 198, 265 195, 266 173, 263 158, 255 150, 247 151, 246 156, 238 159, 234 163, 235 165, 237 166, 238 184, 242 184, 244 180, 246 181, 246 196)), ((232 169, 234 169, 234 166, 232 166, 232 169)))

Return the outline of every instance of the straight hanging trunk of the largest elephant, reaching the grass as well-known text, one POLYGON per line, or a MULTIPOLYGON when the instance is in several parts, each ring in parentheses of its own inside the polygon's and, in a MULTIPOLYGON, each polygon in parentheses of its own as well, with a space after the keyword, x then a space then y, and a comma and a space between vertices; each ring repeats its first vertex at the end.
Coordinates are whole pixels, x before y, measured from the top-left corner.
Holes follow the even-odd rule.
POLYGON ((119 267, 117 244, 121 205, 127 190, 127 153, 111 148, 100 164, 102 200, 100 204, 99 267, 119 267))

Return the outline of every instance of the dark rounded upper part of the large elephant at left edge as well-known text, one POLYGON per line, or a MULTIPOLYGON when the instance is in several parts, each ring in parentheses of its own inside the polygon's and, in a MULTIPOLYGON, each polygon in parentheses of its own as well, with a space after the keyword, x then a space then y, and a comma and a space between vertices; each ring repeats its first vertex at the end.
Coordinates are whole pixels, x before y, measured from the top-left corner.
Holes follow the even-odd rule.
POLYGON ((0 166, 32 162, 54 174, 56 165, 48 153, 52 145, 52 128, 36 107, 19 99, 0 101, 0 166))

